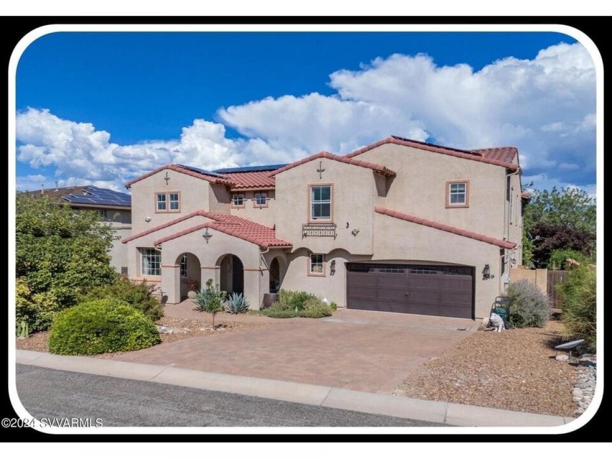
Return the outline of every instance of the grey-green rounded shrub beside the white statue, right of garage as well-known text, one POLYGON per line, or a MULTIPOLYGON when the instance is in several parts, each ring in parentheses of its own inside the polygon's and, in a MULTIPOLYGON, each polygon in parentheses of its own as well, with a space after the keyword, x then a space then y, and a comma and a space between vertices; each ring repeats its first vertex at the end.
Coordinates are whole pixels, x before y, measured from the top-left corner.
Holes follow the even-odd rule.
POLYGON ((543 327, 550 318, 550 299, 528 280, 511 283, 506 296, 509 299, 510 326, 543 327))

